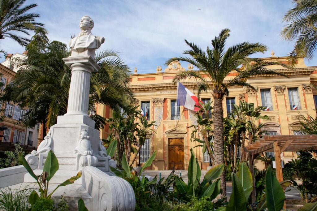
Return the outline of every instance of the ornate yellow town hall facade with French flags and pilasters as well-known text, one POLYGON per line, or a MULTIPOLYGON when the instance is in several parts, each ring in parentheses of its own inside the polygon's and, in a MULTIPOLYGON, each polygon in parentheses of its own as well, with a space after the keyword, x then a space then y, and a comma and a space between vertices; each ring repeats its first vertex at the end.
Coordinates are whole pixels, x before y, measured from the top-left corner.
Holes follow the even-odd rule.
MULTIPOLYGON (((262 58, 266 61, 287 62, 287 57, 262 58)), ((299 59, 294 70, 283 69, 281 66, 271 66, 284 73, 289 78, 278 75, 260 75, 247 80, 256 90, 243 86, 229 87, 229 95, 223 99, 223 113, 233 108, 233 104, 239 101, 254 103, 256 106, 267 106, 268 111, 263 111, 262 115, 267 115, 269 120, 259 119, 258 123, 263 123, 263 130, 267 135, 293 135, 299 134, 300 114, 308 117, 315 117, 315 100, 317 90, 312 84, 317 83, 317 67, 307 67, 303 59, 299 59)), ((155 121, 156 133, 148 135, 147 142, 141 150, 141 163, 144 162, 154 150, 157 156, 149 169, 169 170, 187 169, 190 159, 190 149, 194 153, 202 169, 209 166, 208 154, 202 153, 201 147, 194 148, 198 143, 191 141, 191 125, 197 124, 194 112, 180 106, 179 112, 175 115, 175 103, 177 98, 177 84, 172 83, 176 74, 193 70, 191 64, 187 68, 181 66, 178 61, 174 61, 163 71, 159 66, 155 73, 138 74, 137 69, 131 75, 129 87, 138 99, 139 106, 146 110, 149 120, 155 121)), ((201 73, 203 74, 203 73, 201 73)), ((226 80, 235 76, 236 72, 228 74, 226 80)), ((208 80, 208 77, 206 80, 208 80)), ((197 95, 197 81, 182 80, 181 83, 192 93, 197 95)), ((206 102, 213 100, 210 93, 202 93, 200 98, 206 102)), ((316 98, 317 99, 317 98, 316 98)), ((97 112, 103 116, 110 115, 111 111, 102 105, 98 105, 97 112), (107 115, 106 115, 107 114, 107 115)), ((101 137, 107 136, 107 128, 101 131, 101 137)), ((296 157, 296 152, 283 152, 282 159, 285 162, 296 157)), ((259 161, 255 161, 259 162, 259 161)), ((255 163, 261 169, 261 163, 255 163)), ((135 163, 133 164, 135 165, 135 163)))

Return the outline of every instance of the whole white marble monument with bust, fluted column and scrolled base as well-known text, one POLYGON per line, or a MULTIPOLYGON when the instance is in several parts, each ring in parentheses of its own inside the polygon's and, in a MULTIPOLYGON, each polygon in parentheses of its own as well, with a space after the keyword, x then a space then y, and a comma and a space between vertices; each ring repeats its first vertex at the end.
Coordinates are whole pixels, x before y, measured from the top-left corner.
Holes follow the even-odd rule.
MULTIPOLYGON (((50 181, 51 188, 82 170, 82 177, 58 189, 53 194, 55 198, 65 193, 76 205, 83 198, 89 210, 134 210, 133 189, 109 169, 116 163, 107 156, 99 131, 94 129, 95 122, 87 114, 90 76, 100 69, 94 61, 95 50, 105 39, 91 33, 94 21, 89 16, 81 18, 79 27, 81 33, 69 41, 71 56, 63 59, 72 73, 67 113, 58 116, 57 124, 50 128, 37 151, 25 158, 40 175, 49 150, 54 151, 59 170, 50 181)), ((0 169, 0 188, 25 186, 29 182, 35 181, 23 166, 0 169)))

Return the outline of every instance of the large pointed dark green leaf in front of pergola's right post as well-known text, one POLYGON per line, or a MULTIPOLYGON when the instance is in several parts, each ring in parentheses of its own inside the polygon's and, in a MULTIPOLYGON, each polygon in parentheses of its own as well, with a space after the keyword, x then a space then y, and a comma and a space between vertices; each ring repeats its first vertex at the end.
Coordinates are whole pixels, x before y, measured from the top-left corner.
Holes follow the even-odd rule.
POLYGON ((266 203, 269 211, 280 211, 284 206, 285 194, 280 182, 272 172, 271 166, 268 167, 265 176, 266 203))

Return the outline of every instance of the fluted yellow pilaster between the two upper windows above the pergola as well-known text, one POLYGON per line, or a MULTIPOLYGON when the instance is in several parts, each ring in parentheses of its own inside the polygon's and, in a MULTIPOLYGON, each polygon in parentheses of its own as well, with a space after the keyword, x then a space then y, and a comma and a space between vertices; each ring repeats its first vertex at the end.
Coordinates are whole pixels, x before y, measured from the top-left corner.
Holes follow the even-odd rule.
MULTIPOLYGON (((277 100, 277 107, 279 110, 280 120, 287 119, 286 115, 286 105, 285 105, 285 86, 274 86, 274 90, 276 92, 276 100, 277 100)), ((281 135, 289 135, 288 124, 281 124, 281 135)))

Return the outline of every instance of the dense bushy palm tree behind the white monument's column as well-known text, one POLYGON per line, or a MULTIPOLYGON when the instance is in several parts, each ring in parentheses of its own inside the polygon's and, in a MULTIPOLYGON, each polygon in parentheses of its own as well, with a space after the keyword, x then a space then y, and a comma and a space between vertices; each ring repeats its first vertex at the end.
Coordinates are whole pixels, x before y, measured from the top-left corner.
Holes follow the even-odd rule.
MULTIPOLYGON (((42 30, 37 31, 26 49, 28 58, 15 61, 21 69, 13 83, 7 86, 8 98, 29 109, 23 118, 25 126, 44 123, 49 128, 56 123, 58 115, 67 111, 71 71, 62 58, 68 57, 70 52, 61 42, 49 42, 42 30)), ((132 93, 126 86, 129 83, 129 68, 117 52, 100 51, 95 61, 101 68, 91 76, 89 110, 91 118, 99 120, 99 124, 95 125, 99 129, 103 127, 105 119, 94 114, 95 104, 126 108, 132 93)))

